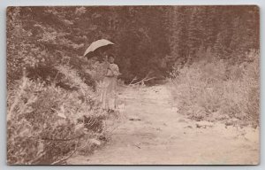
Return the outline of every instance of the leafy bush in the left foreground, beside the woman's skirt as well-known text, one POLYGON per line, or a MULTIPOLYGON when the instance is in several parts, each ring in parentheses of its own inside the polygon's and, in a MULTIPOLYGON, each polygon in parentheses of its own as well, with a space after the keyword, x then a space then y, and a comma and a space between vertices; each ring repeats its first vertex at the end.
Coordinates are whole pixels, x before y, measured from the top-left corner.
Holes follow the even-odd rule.
POLYGON ((97 94, 69 66, 57 69, 64 74, 64 82, 77 90, 27 77, 8 89, 8 164, 57 164, 79 148, 91 152, 104 135, 107 116, 97 94), (84 143, 85 139, 94 141, 84 143))

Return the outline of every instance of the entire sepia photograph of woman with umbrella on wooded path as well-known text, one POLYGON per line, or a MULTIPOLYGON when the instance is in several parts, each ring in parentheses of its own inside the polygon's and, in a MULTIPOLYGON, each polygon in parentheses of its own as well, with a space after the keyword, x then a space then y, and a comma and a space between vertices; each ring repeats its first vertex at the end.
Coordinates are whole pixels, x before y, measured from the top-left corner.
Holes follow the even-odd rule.
POLYGON ((9 6, 7 165, 260 164, 257 5, 9 6))

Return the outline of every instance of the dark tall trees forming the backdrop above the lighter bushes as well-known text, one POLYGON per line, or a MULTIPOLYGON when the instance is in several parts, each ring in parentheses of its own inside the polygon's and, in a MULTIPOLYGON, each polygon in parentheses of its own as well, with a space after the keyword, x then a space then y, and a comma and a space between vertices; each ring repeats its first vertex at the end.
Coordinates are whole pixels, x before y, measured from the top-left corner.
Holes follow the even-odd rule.
POLYGON ((93 6, 10 7, 7 9, 8 82, 23 69, 49 81, 56 66, 68 64, 85 73, 82 55, 89 43, 105 38, 116 45, 122 79, 147 74, 166 77, 176 63, 202 58, 243 62, 248 50, 259 50, 257 6, 93 6), (208 55, 210 53, 210 55, 208 55))

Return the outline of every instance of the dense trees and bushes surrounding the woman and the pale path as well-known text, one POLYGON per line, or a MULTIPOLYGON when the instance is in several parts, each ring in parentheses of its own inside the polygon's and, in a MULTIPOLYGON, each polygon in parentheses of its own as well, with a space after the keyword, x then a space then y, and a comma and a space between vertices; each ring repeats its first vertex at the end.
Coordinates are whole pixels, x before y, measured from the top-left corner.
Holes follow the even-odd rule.
POLYGON ((61 164, 108 141, 103 122, 117 115, 100 109, 99 61, 83 56, 102 38, 124 85, 170 79, 191 119, 256 123, 259 16, 254 5, 9 7, 7 162, 61 164))

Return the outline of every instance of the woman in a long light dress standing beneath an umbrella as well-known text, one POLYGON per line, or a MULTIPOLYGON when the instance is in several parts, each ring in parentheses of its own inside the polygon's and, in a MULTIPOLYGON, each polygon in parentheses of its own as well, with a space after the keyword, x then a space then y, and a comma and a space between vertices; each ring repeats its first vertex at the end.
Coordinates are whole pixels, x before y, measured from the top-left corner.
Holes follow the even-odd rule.
POLYGON ((118 66, 114 64, 114 57, 110 55, 106 62, 106 72, 103 78, 101 94, 102 108, 115 110, 117 108, 117 76, 120 74, 118 66))

